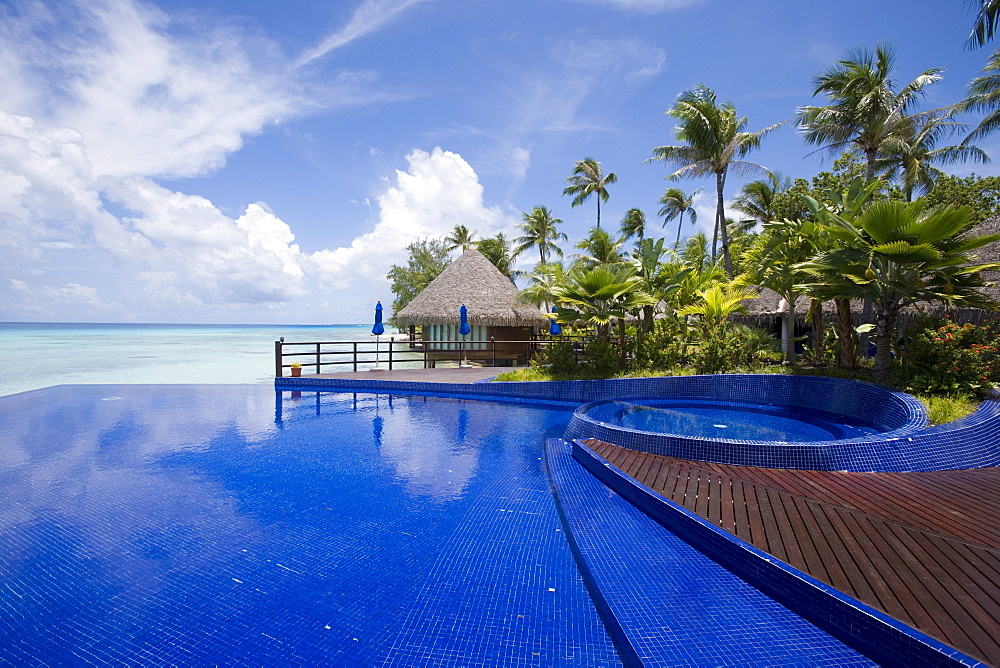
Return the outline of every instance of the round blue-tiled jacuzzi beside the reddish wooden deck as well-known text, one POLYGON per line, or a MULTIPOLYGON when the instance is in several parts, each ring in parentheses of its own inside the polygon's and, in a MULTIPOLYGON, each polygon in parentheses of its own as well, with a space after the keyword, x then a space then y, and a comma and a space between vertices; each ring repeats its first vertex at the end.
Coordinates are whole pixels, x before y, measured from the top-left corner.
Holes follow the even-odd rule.
POLYGON ((866 469, 873 448, 905 447, 927 425, 916 399, 808 376, 687 376, 644 396, 586 403, 565 436, 744 466, 866 469))

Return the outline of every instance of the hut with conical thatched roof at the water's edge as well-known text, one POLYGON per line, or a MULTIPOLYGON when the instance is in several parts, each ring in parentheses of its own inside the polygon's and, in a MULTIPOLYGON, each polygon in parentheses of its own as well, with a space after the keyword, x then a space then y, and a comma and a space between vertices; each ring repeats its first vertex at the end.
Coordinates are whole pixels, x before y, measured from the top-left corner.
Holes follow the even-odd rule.
POLYGON ((433 366, 437 360, 457 359, 463 345, 469 360, 523 363, 528 342, 549 320, 521 299, 517 287, 485 255, 470 248, 397 313, 396 322, 411 332, 421 329, 411 340, 428 353, 427 363, 433 366), (472 330, 465 337, 458 333, 463 304, 472 330))

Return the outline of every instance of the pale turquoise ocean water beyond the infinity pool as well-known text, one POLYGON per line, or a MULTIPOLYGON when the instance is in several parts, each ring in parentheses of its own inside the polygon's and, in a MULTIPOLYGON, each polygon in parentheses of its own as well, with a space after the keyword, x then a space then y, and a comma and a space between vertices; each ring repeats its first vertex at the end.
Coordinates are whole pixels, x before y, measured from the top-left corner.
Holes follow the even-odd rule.
MULTIPOLYGON (((382 350, 390 333, 381 337, 382 350)), ((79 383, 271 383, 274 342, 282 336, 375 348, 371 324, 0 323, 0 395, 79 383)), ((324 371, 338 369, 353 370, 324 371)))

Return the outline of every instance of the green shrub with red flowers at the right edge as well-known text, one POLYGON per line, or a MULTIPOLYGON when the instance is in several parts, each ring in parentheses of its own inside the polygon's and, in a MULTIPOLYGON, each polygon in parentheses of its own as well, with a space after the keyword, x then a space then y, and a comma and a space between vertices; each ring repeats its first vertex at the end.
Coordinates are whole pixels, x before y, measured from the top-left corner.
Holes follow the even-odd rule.
POLYGON ((959 325, 948 318, 923 316, 907 331, 900 353, 906 389, 953 394, 992 388, 1000 372, 997 325, 959 325))

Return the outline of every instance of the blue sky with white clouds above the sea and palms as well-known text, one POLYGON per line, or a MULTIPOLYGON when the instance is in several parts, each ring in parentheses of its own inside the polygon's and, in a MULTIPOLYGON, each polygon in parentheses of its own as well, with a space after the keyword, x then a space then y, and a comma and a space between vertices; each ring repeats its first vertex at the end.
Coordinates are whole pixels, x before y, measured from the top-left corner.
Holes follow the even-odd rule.
MULTIPOLYGON (((991 51, 963 48, 972 20, 961 0, 3 1, 0 321, 366 322, 417 239, 516 236, 539 205, 581 239, 596 205, 561 193, 587 156, 618 175, 606 226, 639 207, 655 229, 664 188, 704 187, 686 235, 712 183, 645 162, 680 91, 756 130, 884 41, 900 82, 946 68, 924 106, 949 104, 991 51)), ((810 177, 832 163, 812 151, 788 124, 749 159, 810 177)))

